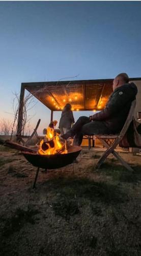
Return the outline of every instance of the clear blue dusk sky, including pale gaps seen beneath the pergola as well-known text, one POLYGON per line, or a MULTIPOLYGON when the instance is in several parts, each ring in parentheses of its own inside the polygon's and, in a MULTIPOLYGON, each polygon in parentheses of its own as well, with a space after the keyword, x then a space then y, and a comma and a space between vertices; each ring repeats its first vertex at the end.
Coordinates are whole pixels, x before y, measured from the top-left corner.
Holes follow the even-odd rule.
MULTIPOLYGON (((140 13, 135 1, 0 2, 0 120, 21 82, 140 77, 140 13)), ((50 111, 38 102, 32 113, 42 130, 50 111)))

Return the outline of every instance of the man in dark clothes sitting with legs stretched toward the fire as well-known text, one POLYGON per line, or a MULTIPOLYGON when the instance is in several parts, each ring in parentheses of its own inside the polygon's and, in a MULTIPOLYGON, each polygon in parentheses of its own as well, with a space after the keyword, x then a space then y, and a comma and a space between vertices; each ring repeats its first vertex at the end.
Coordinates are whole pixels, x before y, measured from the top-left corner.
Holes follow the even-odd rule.
POLYGON ((129 83, 126 73, 121 73, 114 79, 112 89, 114 92, 110 95, 105 109, 90 117, 79 117, 70 131, 61 137, 74 137, 73 145, 80 145, 83 135, 120 133, 137 88, 133 82, 129 83))

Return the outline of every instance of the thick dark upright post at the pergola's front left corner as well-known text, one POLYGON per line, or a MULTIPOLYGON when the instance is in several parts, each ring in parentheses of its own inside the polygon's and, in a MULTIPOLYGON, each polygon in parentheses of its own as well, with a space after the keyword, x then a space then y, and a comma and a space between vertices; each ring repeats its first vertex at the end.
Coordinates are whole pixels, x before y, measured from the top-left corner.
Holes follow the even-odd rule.
POLYGON ((23 118, 23 104, 24 104, 24 86, 21 83, 21 90, 20 90, 20 101, 19 101, 19 113, 18 113, 18 127, 17 127, 17 135, 21 136, 22 131, 22 118, 23 118))

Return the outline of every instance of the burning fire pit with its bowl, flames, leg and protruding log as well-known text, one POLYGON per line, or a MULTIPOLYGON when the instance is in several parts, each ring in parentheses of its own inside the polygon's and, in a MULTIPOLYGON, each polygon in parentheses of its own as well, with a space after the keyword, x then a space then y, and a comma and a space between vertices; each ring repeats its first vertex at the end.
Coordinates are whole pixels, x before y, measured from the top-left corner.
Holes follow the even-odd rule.
POLYGON ((20 150, 27 161, 38 167, 33 188, 36 186, 40 168, 47 170, 64 167, 73 163, 81 152, 80 146, 67 146, 67 142, 61 141, 59 134, 55 133, 50 127, 47 128, 46 137, 40 142, 38 147, 30 148, 2 139, 0 139, 0 144, 20 150))

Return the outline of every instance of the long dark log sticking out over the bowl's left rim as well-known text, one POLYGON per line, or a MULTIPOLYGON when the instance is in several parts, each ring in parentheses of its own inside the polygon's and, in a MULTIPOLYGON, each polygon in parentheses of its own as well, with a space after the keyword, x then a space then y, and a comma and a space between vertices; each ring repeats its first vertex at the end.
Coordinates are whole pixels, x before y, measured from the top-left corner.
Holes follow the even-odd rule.
POLYGON ((24 151, 24 152, 30 152, 30 153, 37 153, 37 150, 34 150, 33 148, 22 146, 16 142, 13 142, 11 140, 3 140, 0 139, 0 144, 4 146, 8 146, 11 148, 14 148, 15 150, 24 151))

